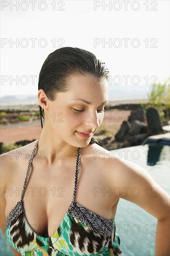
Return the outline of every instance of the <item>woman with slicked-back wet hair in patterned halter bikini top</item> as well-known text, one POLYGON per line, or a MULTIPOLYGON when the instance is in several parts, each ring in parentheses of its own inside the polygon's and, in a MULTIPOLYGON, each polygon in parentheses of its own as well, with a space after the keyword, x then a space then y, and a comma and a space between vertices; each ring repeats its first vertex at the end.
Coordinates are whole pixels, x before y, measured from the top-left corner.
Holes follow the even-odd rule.
POLYGON ((104 118, 108 78, 105 63, 83 49, 63 47, 44 62, 39 139, 1 157, 0 221, 15 255, 122 255, 119 198, 157 218, 156 256, 169 255, 169 195, 144 168, 111 158, 92 137, 104 118), (134 184, 138 197, 128 193, 134 184), (98 193, 115 187, 119 196, 98 193))

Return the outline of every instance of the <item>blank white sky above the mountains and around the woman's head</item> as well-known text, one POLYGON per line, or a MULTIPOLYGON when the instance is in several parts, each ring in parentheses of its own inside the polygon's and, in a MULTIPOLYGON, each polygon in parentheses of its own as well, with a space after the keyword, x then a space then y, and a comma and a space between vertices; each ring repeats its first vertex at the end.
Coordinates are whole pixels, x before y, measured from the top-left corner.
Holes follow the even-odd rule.
POLYGON ((110 90, 136 85, 142 91, 170 77, 169 0, 0 4, 1 97, 36 95, 46 57, 66 46, 84 48, 105 61, 110 90))

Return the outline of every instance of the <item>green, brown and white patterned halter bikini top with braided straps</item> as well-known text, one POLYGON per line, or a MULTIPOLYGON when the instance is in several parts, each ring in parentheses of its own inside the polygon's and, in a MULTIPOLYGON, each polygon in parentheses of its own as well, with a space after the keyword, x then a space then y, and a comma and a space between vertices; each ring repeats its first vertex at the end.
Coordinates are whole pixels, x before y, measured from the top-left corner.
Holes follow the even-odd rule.
POLYGON ((20 202, 7 216, 5 234, 10 245, 22 256, 121 256, 120 239, 114 218, 105 219, 75 202, 81 148, 78 148, 72 202, 59 228, 50 237, 36 234, 26 220, 23 196, 38 145, 30 156, 20 202))

